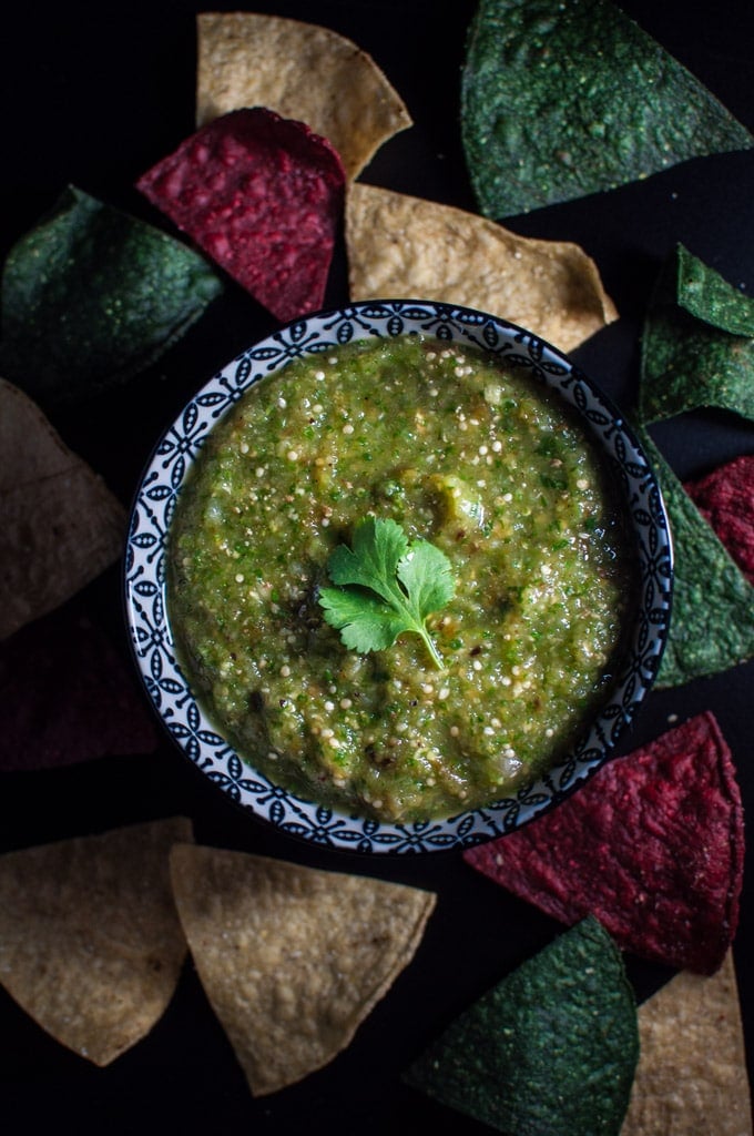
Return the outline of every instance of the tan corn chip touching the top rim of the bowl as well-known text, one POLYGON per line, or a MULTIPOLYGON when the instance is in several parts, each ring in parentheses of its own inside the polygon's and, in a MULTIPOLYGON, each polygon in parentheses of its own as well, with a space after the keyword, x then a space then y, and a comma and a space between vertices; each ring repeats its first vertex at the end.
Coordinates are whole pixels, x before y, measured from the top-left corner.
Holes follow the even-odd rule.
POLYGON ((518 236, 452 206, 350 186, 352 300, 445 300, 519 324, 570 351, 618 318, 577 244, 518 236))

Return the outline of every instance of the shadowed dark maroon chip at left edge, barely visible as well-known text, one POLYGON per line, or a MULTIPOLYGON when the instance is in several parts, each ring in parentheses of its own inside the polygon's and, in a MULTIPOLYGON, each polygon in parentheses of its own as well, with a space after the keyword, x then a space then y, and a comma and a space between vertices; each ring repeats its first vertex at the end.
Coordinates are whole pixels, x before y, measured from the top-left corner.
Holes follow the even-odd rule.
POLYGON ((0 643, 0 770, 157 749, 135 673, 75 601, 0 643))

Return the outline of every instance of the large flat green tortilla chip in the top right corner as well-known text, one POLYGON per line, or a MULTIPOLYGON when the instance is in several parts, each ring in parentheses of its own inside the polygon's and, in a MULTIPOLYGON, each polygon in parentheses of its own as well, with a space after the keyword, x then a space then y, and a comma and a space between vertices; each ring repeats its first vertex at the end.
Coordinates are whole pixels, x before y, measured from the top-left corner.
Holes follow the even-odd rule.
POLYGON ((466 160, 500 219, 754 137, 608 0, 481 0, 462 74, 466 160))

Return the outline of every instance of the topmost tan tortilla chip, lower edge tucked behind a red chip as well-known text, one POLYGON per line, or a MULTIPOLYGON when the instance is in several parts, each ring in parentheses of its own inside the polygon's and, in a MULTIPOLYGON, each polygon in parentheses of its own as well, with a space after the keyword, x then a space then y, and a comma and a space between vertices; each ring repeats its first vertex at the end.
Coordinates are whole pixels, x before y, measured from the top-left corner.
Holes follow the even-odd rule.
POLYGON ((411 126, 374 60, 344 36, 253 12, 196 17, 196 125, 243 107, 269 107, 329 139, 349 178, 411 126))

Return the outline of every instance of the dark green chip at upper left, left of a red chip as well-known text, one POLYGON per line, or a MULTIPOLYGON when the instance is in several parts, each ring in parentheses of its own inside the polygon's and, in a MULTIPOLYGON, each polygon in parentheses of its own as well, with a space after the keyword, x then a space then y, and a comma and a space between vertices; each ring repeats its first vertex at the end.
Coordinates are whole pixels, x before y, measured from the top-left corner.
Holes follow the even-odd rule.
POLYGON ((0 374, 44 407, 144 370, 221 282, 187 245, 68 187, 10 250, 0 374))

